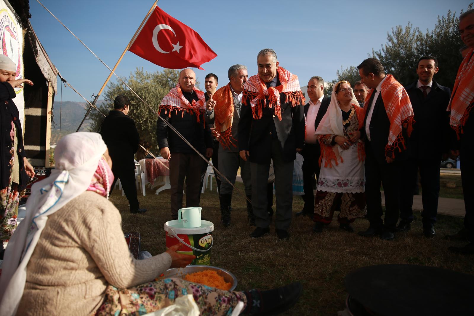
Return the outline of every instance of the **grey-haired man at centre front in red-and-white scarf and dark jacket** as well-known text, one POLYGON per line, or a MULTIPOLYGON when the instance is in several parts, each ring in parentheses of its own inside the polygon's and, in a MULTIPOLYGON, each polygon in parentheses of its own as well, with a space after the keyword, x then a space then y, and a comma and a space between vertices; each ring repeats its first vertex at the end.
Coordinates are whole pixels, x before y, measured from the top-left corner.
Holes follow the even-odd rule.
POLYGON ((250 161, 252 206, 258 238, 270 232, 267 209, 267 182, 270 161, 275 171, 275 232, 288 239, 292 219, 293 163, 304 147, 303 94, 298 77, 279 67, 273 49, 257 55, 258 74, 244 86, 238 124, 239 154, 250 161))

